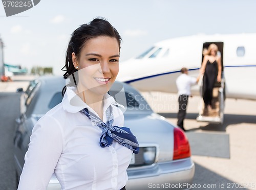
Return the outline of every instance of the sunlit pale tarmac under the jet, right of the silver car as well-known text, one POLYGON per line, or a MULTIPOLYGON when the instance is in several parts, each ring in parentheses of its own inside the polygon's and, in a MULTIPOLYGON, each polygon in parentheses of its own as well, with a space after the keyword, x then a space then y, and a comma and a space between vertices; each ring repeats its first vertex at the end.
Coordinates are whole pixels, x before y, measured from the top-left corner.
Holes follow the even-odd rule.
MULTIPOLYGON (((178 97, 176 94, 161 92, 143 92, 142 94, 155 112, 166 117, 168 121, 177 123, 178 97)), ((244 188, 256 189, 256 101, 226 98, 224 123, 221 125, 196 120, 200 99, 199 96, 193 96, 188 100, 187 118, 184 120, 186 133, 193 131, 229 134, 230 158, 192 155, 194 162, 233 181, 234 184, 231 185, 238 187, 241 184, 244 188)), ((224 189, 228 187, 225 186, 224 189)))

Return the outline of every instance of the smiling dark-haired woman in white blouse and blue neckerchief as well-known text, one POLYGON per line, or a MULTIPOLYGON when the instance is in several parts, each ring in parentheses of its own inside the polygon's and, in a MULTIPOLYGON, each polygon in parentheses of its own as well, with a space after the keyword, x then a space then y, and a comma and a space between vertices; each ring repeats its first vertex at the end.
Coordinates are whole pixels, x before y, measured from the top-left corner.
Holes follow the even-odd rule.
POLYGON ((120 40, 103 18, 74 31, 63 75, 71 83, 33 128, 19 190, 46 189, 53 172, 62 189, 125 189, 139 145, 123 127, 123 106, 108 94, 119 71, 120 40))

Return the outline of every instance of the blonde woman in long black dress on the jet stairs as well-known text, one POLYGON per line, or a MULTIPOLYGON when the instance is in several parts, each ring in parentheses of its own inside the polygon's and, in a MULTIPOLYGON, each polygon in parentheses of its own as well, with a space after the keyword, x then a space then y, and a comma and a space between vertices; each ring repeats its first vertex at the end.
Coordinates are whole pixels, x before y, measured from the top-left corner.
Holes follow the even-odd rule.
POLYGON ((217 55, 218 46, 210 44, 208 49, 204 49, 201 72, 203 76, 203 100, 204 108, 211 108, 212 90, 216 80, 221 82, 221 57, 217 55))

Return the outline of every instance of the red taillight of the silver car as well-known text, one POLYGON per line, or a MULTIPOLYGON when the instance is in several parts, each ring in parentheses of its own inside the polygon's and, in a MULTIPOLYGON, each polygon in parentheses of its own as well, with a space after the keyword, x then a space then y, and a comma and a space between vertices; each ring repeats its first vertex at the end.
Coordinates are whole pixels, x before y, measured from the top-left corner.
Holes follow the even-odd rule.
POLYGON ((180 128, 174 128, 174 157, 173 159, 181 159, 190 157, 190 146, 188 139, 180 128))

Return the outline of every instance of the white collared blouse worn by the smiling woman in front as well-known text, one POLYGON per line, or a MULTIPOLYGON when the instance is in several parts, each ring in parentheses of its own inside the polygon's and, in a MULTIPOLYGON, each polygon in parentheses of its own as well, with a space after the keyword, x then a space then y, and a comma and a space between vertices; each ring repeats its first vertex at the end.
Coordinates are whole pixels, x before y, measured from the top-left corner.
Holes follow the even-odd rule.
MULTIPOLYGON (((18 190, 46 189, 54 171, 62 189, 121 189, 127 182, 126 169, 132 150, 113 141, 110 147, 99 145, 101 129, 86 115, 84 107, 97 115, 68 87, 60 104, 52 108, 34 126, 18 190)), ((106 108, 113 107, 113 126, 122 127, 123 113, 114 98, 104 96, 106 108)))

